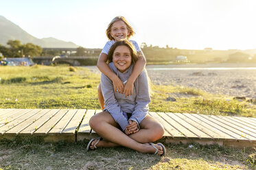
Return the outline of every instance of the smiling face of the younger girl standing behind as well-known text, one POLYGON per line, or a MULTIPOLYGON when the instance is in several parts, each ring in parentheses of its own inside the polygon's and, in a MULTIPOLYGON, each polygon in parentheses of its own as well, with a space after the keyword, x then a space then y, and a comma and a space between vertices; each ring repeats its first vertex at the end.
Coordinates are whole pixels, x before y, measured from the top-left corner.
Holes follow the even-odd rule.
POLYGON ((115 41, 126 39, 128 34, 129 31, 123 21, 116 21, 113 23, 110 35, 115 39, 115 41))

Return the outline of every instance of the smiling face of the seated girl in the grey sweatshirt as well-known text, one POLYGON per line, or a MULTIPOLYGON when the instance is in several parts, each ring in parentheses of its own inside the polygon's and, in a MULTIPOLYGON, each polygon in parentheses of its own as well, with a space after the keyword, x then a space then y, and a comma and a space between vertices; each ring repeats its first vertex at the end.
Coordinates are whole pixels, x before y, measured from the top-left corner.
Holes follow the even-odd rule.
POLYGON ((113 53, 113 63, 121 73, 129 68, 131 62, 132 56, 128 47, 120 45, 115 48, 113 53))

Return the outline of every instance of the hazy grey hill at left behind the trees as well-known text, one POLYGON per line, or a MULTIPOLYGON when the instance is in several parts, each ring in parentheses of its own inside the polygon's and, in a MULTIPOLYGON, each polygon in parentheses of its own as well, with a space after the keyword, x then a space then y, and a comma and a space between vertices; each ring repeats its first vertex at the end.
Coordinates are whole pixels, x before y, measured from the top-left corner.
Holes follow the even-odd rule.
POLYGON ((0 16, 0 44, 6 45, 8 40, 20 40, 21 43, 26 44, 31 42, 40 47, 48 48, 77 48, 73 42, 67 42, 64 40, 58 40, 56 38, 36 38, 27 32, 25 32, 19 25, 16 25, 5 19, 5 17, 0 16))

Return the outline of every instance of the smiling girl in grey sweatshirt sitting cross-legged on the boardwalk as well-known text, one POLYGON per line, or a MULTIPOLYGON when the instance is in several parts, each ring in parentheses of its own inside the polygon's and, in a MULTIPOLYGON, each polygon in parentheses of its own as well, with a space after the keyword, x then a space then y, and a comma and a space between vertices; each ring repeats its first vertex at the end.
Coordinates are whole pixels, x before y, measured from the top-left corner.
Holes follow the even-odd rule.
MULTIPOLYGON (((138 60, 134 46, 128 40, 115 42, 108 52, 108 66, 124 82, 138 60)), ((150 89, 148 75, 143 70, 135 80, 133 93, 119 93, 106 75, 101 75, 105 109, 89 121, 91 128, 102 138, 93 138, 87 150, 97 147, 124 146, 142 153, 165 155, 162 143, 153 144, 163 136, 163 126, 148 115, 150 89)))

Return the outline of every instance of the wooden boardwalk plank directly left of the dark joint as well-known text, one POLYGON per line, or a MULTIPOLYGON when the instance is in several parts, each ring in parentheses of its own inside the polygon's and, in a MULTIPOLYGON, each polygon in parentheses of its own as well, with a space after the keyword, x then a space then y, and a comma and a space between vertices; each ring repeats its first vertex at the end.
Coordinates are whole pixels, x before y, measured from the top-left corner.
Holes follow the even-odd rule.
POLYGON ((82 118, 84 117, 85 112, 86 109, 78 110, 78 112, 75 113, 75 116, 71 119, 67 127, 65 127, 65 130, 63 130, 62 134, 75 134, 75 130, 77 130, 80 123, 82 123, 82 118))

